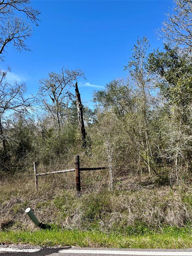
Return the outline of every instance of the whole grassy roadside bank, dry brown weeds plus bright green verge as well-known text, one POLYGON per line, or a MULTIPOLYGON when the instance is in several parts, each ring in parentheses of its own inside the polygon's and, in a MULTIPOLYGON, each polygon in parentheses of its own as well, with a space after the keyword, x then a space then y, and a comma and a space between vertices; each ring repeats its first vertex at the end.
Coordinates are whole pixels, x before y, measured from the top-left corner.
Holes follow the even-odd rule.
POLYGON ((0 181, 0 221, 13 221, 0 231, 0 243, 192 248, 192 185, 148 187, 147 177, 130 177, 113 192, 90 187, 77 197, 54 179, 41 180, 37 192, 29 177, 0 181), (36 228, 27 207, 51 230, 36 228))

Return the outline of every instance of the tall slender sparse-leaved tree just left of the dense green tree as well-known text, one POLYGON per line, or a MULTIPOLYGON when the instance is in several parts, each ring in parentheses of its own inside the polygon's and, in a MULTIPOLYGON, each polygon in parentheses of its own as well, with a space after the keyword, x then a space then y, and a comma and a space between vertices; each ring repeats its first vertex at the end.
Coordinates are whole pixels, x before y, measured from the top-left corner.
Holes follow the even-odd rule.
MULTIPOLYGON (((140 138, 139 142, 144 149, 144 156, 148 165, 148 172, 151 174, 153 156, 151 152, 149 132, 148 132, 148 123, 147 123, 147 112, 148 112, 148 97, 150 95, 151 84, 150 76, 146 70, 146 59, 147 51, 149 48, 148 39, 143 37, 142 39, 137 40, 137 44, 134 45, 134 52, 132 54, 131 60, 128 65, 125 66, 125 70, 129 72, 132 83, 134 84, 137 91, 137 108, 139 114, 139 131, 138 135, 135 128, 133 127, 135 135, 140 138), (139 97, 141 99, 139 100, 139 97), (145 140, 141 138, 145 138, 145 140)), ((139 153, 139 157, 140 157, 139 153)))

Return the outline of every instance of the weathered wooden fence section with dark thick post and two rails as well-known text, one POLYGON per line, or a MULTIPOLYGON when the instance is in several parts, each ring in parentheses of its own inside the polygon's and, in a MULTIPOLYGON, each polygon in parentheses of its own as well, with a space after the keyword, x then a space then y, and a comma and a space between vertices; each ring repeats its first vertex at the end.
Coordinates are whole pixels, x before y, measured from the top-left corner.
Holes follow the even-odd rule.
POLYGON ((107 169, 107 167, 92 167, 92 168, 80 168, 79 155, 74 158, 74 169, 69 170, 61 170, 55 172, 45 172, 45 173, 37 173, 37 163, 33 163, 34 166, 34 174, 35 174, 35 188, 38 190, 38 176, 49 175, 49 174, 57 174, 57 173, 65 173, 65 172, 75 172, 75 183, 77 192, 81 191, 81 171, 94 171, 94 170, 103 170, 107 169))

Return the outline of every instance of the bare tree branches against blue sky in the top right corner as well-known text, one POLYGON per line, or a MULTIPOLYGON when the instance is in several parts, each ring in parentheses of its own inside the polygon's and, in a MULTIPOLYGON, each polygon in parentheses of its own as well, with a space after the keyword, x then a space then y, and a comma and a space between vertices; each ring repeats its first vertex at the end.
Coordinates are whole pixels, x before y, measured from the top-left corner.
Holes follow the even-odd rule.
POLYGON ((168 43, 192 50, 192 0, 175 0, 172 13, 167 14, 160 36, 168 43))

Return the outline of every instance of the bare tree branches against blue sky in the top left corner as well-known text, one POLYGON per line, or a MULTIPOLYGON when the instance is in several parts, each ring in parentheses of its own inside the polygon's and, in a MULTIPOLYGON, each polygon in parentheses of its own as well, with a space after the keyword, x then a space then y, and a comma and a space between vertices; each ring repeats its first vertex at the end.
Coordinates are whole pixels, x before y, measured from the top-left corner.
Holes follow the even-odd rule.
MULTIPOLYGON (((20 14, 25 15, 31 23, 38 25, 40 12, 29 6, 29 0, 0 1, 0 54, 5 52, 9 43, 18 50, 30 50, 25 40, 31 36, 31 25, 20 14)), ((2 60, 3 57, 1 56, 2 60)))

